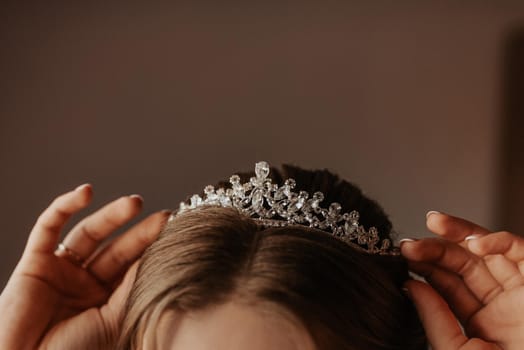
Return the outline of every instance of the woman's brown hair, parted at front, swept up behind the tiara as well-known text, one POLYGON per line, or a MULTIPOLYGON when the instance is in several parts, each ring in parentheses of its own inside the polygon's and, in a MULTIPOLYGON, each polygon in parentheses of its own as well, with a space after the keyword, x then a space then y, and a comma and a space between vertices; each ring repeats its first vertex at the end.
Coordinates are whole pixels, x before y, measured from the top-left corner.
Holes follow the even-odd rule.
MULTIPOLYGON (((359 211, 362 225, 388 238, 388 217, 353 184, 289 165, 271 173, 278 183, 292 177, 298 190, 321 191, 325 203, 359 211)), ((423 350, 424 330, 402 292, 408 278, 400 256, 361 252, 305 226, 264 229, 236 209, 202 207, 168 222, 144 253, 119 349, 142 348, 146 329, 167 310, 184 314, 235 300, 289 312, 318 349, 423 350)))

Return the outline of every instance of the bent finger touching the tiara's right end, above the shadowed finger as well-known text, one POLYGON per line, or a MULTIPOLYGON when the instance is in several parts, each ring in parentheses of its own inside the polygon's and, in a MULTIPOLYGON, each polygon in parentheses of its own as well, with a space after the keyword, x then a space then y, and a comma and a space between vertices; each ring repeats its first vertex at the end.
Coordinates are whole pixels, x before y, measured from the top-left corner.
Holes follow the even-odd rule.
POLYGON ((456 243, 438 238, 425 238, 402 243, 401 251, 408 260, 432 263, 462 276, 466 286, 483 304, 503 291, 484 261, 456 243))

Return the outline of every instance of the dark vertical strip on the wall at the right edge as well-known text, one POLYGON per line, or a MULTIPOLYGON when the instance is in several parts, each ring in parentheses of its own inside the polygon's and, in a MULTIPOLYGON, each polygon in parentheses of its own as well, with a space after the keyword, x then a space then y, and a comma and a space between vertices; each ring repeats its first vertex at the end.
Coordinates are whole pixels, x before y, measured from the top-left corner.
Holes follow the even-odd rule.
POLYGON ((511 31, 503 57, 500 228, 524 235, 524 26, 511 31))

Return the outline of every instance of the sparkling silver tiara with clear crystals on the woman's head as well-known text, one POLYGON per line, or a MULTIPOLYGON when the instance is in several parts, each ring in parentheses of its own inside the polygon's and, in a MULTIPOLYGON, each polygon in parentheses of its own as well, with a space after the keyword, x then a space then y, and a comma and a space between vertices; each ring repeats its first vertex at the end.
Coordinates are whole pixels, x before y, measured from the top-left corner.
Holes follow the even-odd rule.
POLYGON ((336 202, 323 208, 320 206, 324 200, 322 192, 313 193, 311 198, 306 191, 293 192, 296 185, 294 179, 287 179, 283 186, 278 186, 268 177, 269 170, 268 163, 258 162, 255 165, 256 177, 252 177, 249 182, 240 183, 240 177, 233 175, 229 179, 231 188, 206 186, 204 197, 193 195, 189 204, 180 203, 177 213, 202 206, 232 207, 263 227, 303 225, 328 232, 370 254, 400 254, 390 239, 380 239, 375 227, 366 230, 359 224, 358 211, 341 213, 342 207, 336 202))

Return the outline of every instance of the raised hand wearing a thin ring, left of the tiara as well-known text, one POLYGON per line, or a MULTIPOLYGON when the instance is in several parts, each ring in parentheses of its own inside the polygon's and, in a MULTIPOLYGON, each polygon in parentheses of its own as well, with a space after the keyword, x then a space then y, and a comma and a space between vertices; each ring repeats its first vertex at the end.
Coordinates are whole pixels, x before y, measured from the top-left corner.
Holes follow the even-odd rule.
POLYGON ((64 239, 86 262, 80 264, 55 250, 66 221, 91 197, 91 186, 80 186, 55 199, 38 218, 0 295, 0 348, 114 348, 134 278, 130 267, 157 237, 168 213, 152 214, 95 254, 113 231, 140 212, 142 199, 125 196, 107 204, 64 239))

